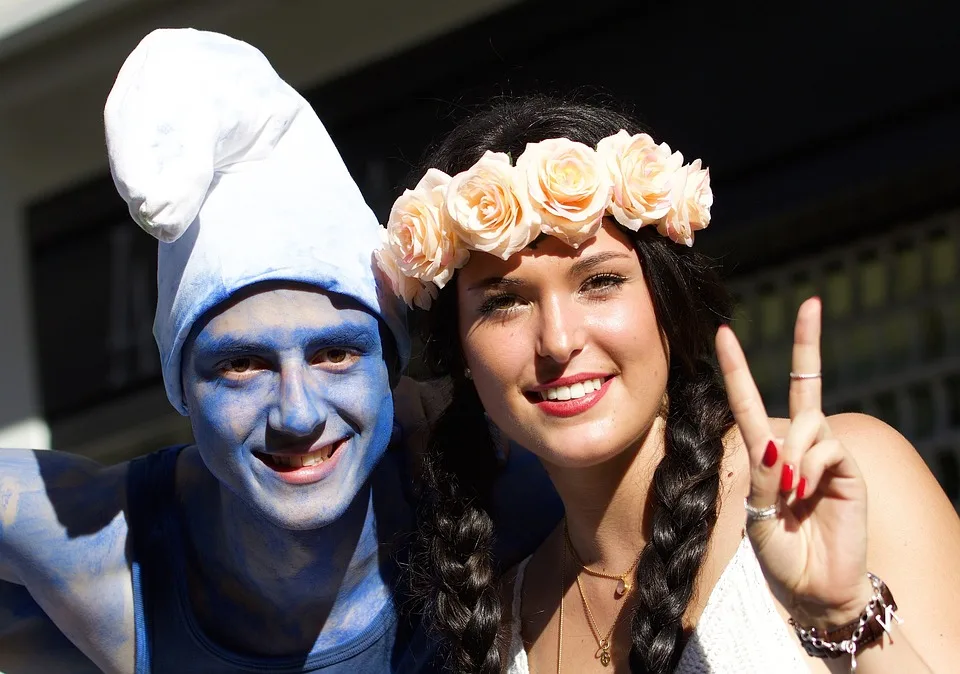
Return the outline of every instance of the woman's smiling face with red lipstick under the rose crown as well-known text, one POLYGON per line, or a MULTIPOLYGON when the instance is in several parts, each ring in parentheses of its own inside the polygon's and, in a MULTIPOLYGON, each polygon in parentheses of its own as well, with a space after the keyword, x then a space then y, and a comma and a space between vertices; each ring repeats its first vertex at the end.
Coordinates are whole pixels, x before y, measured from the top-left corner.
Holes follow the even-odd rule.
POLYGON ((509 260, 472 253, 459 332, 487 414, 559 466, 610 459, 661 408, 667 352, 627 235, 605 222, 575 250, 544 237, 509 260))

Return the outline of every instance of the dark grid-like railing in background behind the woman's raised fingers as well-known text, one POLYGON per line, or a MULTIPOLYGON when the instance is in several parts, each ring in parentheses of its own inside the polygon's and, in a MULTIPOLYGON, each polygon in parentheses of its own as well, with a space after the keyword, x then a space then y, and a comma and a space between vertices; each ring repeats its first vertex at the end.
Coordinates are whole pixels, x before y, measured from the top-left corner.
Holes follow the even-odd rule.
POLYGON ((796 309, 819 294, 825 411, 897 428, 960 508, 960 210, 730 287, 732 325, 770 414, 786 414, 796 309))

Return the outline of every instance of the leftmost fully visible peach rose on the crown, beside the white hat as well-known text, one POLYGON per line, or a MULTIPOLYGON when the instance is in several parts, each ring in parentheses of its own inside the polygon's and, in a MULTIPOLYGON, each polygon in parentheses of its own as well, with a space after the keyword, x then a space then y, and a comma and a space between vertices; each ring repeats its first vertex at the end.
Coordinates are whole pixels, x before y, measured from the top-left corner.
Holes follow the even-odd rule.
POLYGON ((394 203, 387 220, 387 245, 407 276, 442 288, 470 253, 460 246, 443 207, 450 176, 430 169, 394 203))

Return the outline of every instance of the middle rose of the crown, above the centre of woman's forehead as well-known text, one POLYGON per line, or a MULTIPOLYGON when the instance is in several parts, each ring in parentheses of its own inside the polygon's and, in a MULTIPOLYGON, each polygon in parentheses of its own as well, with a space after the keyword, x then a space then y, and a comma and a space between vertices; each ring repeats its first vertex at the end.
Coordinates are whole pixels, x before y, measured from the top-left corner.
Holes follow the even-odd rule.
POLYGON ((528 143, 517 170, 543 233, 574 248, 597 233, 613 183, 596 150, 567 138, 528 143))

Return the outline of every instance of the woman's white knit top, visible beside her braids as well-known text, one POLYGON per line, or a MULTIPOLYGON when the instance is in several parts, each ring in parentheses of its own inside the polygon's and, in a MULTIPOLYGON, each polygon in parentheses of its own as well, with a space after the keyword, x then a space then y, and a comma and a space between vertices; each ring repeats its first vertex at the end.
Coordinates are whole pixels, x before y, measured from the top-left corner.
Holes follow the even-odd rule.
MULTIPOLYGON (((523 573, 517 568, 513 588, 513 622, 507 674, 529 674, 530 663, 520 636, 523 573)), ((675 670, 677 674, 808 674, 796 637, 777 613, 760 563, 749 539, 720 575, 675 670)))

